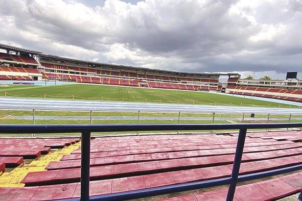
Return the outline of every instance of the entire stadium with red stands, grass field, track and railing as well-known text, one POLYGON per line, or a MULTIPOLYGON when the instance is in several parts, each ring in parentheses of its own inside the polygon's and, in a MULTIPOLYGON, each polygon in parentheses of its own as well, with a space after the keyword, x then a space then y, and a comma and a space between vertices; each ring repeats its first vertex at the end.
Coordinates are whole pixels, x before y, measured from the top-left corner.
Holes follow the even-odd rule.
POLYGON ((295 72, 247 80, 0 49, 1 200, 298 199, 295 72))

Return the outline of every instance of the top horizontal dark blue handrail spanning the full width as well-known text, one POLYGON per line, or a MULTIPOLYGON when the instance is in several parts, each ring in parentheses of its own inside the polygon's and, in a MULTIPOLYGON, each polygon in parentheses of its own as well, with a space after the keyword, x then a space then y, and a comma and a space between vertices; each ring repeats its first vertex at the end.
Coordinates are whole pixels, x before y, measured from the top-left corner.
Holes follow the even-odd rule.
POLYGON ((3 134, 302 128, 302 123, 0 125, 3 134))

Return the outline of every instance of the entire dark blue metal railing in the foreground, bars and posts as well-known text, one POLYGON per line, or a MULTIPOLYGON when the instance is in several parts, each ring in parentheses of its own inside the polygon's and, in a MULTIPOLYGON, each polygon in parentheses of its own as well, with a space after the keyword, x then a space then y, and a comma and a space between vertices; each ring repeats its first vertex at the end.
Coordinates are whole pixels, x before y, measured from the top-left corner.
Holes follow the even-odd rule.
MULTIPOLYGON (((81 133, 81 198, 80 200, 126 200, 180 191, 229 185, 226 200, 233 200, 237 182, 270 177, 302 169, 302 164, 252 174, 239 175, 247 129, 302 128, 302 123, 249 123, 249 124, 94 124, 94 125, 0 125, 3 134, 81 133), (237 130, 239 129, 231 177, 186 184, 176 184, 142 190, 111 193, 89 197, 90 135, 93 132, 128 131, 185 131, 185 130, 237 130)), ((79 200, 79 198, 69 199, 79 200)))

